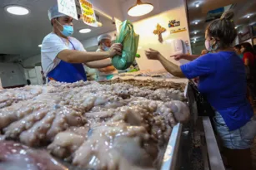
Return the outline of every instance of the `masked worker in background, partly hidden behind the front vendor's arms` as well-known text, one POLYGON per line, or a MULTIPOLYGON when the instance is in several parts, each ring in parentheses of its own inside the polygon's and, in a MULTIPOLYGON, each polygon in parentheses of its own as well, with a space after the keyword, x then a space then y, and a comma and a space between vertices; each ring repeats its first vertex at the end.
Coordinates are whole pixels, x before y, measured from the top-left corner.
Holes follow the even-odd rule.
MULTIPOLYGON (((98 36, 98 50, 97 52, 108 51, 112 44, 112 37, 108 34, 98 36)), ((110 80, 113 78, 113 74, 118 74, 118 70, 114 66, 107 66, 97 70, 97 79, 110 80)))

